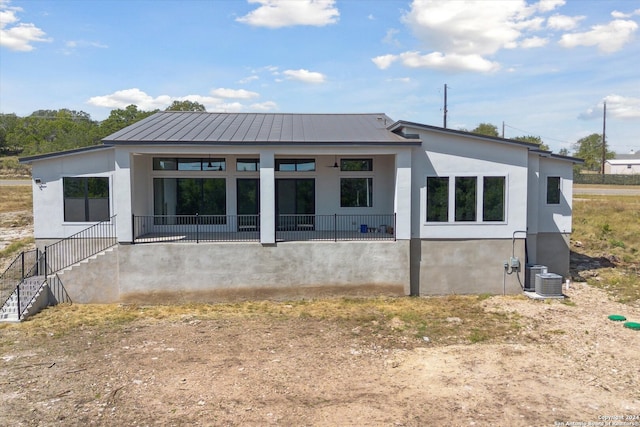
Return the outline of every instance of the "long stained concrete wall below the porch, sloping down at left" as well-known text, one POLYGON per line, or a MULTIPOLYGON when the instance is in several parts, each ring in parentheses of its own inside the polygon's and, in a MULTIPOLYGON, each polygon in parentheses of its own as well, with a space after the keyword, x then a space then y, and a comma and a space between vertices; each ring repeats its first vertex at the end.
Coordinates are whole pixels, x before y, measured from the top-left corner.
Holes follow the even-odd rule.
POLYGON ((409 241, 120 245, 60 278, 76 303, 408 295, 409 241))

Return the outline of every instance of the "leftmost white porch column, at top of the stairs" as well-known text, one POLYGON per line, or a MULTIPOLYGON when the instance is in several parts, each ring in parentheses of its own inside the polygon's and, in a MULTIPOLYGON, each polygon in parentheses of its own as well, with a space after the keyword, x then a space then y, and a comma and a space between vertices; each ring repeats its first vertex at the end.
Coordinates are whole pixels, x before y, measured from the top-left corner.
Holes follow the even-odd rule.
POLYGON ((113 191, 113 213, 116 214, 116 230, 118 242, 128 242, 133 240, 133 230, 131 229, 131 153, 127 150, 116 148, 115 171, 111 190, 113 191))

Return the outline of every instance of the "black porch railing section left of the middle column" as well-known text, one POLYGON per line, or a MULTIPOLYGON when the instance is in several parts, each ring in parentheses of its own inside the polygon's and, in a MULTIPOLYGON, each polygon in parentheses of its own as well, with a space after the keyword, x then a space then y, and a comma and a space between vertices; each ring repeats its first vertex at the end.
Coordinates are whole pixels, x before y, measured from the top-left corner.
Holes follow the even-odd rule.
POLYGON ((133 242, 257 242, 260 215, 133 215, 133 242))

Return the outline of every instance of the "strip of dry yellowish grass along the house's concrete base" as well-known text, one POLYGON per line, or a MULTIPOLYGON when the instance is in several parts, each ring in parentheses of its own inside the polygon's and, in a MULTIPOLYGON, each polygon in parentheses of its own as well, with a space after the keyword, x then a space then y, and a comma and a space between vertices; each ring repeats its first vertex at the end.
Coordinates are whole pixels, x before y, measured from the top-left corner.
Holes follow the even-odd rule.
POLYGON ((61 304, 20 324, 1 329, 27 335, 60 337, 85 328, 113 330, 137 321, 185 322, 214 319, 323 321, 357 330, 363 339, 405 345, 496 342, 512 338, 519 315, 484 310, 475 296, 432 298, 335 298, 286 302, 249 301, 234 304, 117 305, 61 304))

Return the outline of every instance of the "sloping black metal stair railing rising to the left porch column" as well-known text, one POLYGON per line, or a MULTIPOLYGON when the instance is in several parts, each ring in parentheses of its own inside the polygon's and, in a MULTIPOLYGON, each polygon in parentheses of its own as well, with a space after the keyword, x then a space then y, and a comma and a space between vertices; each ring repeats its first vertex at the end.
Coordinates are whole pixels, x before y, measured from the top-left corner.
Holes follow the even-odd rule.
POLYGON ((58 272, 117 243, 116 217, 114 215, 108 221, 101 221, 66 239, 45 246, 47 272, 58 272))

